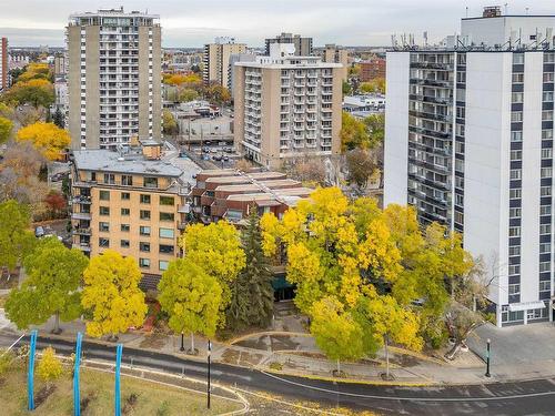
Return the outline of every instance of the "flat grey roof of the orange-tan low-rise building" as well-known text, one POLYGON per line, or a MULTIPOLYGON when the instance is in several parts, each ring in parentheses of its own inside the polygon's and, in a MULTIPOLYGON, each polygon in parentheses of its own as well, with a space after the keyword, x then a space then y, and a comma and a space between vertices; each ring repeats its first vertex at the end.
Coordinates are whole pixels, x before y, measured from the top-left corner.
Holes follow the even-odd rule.
POLYGON ((122 156, 110 150, 75 150, 73 159, 78 170, 151 176, 181 176, 182 171, 167 161, 147 160, 142 155, 122 156))

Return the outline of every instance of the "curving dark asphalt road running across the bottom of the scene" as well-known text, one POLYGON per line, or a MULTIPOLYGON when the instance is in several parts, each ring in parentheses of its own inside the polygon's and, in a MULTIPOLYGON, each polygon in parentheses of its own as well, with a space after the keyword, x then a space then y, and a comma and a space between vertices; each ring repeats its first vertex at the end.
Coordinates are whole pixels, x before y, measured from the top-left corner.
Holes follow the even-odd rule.
MULTIPOLYGON (((0 345, 13 335, 0 334, 0 345)), ((23 338, 21 342, 28 342, 23 338)), ((52 345, 71 354, 74 343, 39 337, 39 348, 52 345)), ((83 342, 84 358, 114 362, 115 346, 83 342)), ((190 377, 206 378, 206 364, 173 355, 123 348, 123 363, 190 377)), ((213 363, 214 382, 243 389, 278 394, 294 400, 320 402, 385 415, 555 415, 555 377, 475 386, 396 387, 311 381, 213 363)))

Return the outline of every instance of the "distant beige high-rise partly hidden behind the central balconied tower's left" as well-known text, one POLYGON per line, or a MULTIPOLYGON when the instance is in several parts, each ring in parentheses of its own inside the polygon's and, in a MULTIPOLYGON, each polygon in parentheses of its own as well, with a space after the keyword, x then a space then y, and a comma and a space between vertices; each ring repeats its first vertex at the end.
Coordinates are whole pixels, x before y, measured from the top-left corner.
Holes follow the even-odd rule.
POLYGON ((234 38, 215 38, 214 43, 204 45, 202 81, 216 82, 229 88, 231 83, 231 55, 246 53, 245 43, 235 43, 234 38))

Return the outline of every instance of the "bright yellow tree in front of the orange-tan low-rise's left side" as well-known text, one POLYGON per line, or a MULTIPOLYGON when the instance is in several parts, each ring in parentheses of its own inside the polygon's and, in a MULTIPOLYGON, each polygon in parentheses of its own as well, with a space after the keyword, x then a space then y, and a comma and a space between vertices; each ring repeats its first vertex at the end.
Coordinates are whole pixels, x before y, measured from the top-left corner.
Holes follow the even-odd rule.
POLYGON ((147 314, 144 293, 139 288, 141 271, 133 257, 107 250, 92 257, 83 273, 81 305, 91 312, 87 333, 117 338, 132 326, 141 326, 147 314))

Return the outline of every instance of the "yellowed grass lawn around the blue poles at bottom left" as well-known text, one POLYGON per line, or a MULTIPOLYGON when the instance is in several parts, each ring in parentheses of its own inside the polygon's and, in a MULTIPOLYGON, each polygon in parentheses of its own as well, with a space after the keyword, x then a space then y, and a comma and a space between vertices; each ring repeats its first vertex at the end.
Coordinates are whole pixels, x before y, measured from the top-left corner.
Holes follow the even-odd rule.
MULTIPOLYGON (((81 371, 81 408, 83 416, 104 416, 113 414, 113 374, 94 369, 81 371), (85 405, 87 403, 87 405, 85 405)), ((53 383, 56 389, 42 403, 40 390, 46 387, 37 381, 34 400, 37 416, 58 416, 73 414, 72 379, 67 372, 53 383)), ((0 376, 0 413, 2 415, 29 415, 27 412, 27 374, 22 368, 11 369, 0 376)), ((195 394, 144 379, 123 376, 121 378, 122 415, 218 415, 242 406, 212 397, 211 410, 206 410, 206 398, 195 394)))

